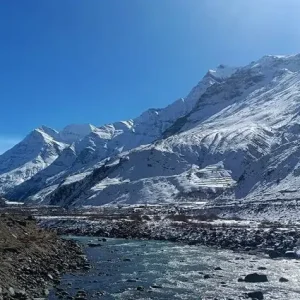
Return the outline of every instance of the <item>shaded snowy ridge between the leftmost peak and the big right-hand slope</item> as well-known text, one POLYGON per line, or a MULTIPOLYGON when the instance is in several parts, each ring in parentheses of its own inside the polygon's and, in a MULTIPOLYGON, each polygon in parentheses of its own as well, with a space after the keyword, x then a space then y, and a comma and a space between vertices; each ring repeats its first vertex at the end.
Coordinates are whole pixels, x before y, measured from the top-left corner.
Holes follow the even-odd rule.
MULTIPOLYGON (((35 195, 39 190, 45 189, 48 193, 54 190, 66 176, 86 173, 86 169, 91 172, 97 162, 107 157, 152 143, 161 138, 165 130, 178 118, 189 113, 208 87, 218 84, 235 71, 235 68, 225 66, 220 66, 214 71, 210 70, 186 98, 179 99, 163 109, 149 109, 133 120, 116 122, 99 128, 90 124, 73 124, 66 126, 60 132, 42 126, 40 130, 43 133, 51 136, 57 143, 67 144, 69 148, 61 152, 59 157, 56 156, 56 160, 53 158, 52 164, 40 164, 36 172, 29 170, 29 175, 24 177, 24 180, 13 182, 12 178, 9 187, 3 191, 7 192, 9 198, 20 200, 35 195)), ((18 162, 17 157, 14 160, 18 162)), ((24 164, 25 161, 20 162, 20 166, 24 164)), ((18 167, 15 171, 19 172, 18 167)), ((21 172, 24 173, 23 170, 21 172)), ((34 199, 37 197, 40 195, 34 196, 34 199)))

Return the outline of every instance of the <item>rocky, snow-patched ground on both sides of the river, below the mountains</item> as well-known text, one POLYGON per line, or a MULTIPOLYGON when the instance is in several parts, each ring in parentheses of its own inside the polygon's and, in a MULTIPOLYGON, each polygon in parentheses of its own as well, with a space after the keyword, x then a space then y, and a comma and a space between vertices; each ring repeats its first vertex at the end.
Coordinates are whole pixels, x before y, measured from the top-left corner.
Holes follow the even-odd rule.
MULTIPOLYGON (((215 250, 228 249, 263 259, 298 259, 300 224, 297 219, 293 222, 283 222, 280 218, 258 220, 256 215, 267 212, 261 205, 245 204, 241 207, 227 203, 209 207, 204 203, 186 203, 72 210, 55 206, 12 205, 1 208, 0 299, 48 297, 48 288, 58 284, 63 273, 82 268, 89 270, 80 247, 72 240, 60 239, 57 233, 165 240, 190 246, 209 246, 215 250), (248 219, 237 217, 247 209, 248 219), (34 220, 44 229, 36 227, 34 220)), ((279 207, 273 203, 274 211, 279 207)), ((294 210, 295 207, 289 209, 294 210)), ((268 213, 270 215, 270 211, 268 213)), ((87 246, 103 246, 101 239, 91 240, 87 246)))

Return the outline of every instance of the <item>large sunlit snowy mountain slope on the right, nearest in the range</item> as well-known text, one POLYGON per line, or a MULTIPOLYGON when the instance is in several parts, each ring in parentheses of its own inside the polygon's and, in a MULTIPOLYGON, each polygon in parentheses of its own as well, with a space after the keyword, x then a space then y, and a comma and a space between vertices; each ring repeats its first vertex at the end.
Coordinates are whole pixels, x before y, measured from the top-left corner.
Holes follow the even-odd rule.
POLYGON ((46 201, 60 191, 77 205, 297 197, 299 71, 299 55, 240 68, 210 86, 165 139, 121 154, 111 170, 108 162, 80 192, 74 186, 89 177, 66 180, 46 201))

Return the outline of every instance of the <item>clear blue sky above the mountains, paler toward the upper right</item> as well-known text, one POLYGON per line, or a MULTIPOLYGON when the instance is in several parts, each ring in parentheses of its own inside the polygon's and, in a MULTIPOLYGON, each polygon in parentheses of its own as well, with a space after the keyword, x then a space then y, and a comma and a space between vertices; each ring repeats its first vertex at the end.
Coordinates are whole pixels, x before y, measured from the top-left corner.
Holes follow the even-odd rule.
POLYGON ((209 68, 300 52, 299 0, 4 0, 0 152, 41 124, 101 125, 209 68))

